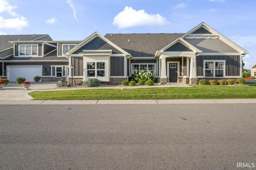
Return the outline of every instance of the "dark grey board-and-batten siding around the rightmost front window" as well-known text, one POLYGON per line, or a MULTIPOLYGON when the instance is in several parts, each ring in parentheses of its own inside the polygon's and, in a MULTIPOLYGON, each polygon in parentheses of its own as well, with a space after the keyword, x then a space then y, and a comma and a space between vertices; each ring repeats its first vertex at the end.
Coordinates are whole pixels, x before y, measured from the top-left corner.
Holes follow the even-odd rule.
POLYGON ((241 76, 240 75, 240 55, 213 55, 213 56, 197 56, 196 57, 196 75, 204 76, 204 60, 225 60, 226 75, 225 76, 241 76))

